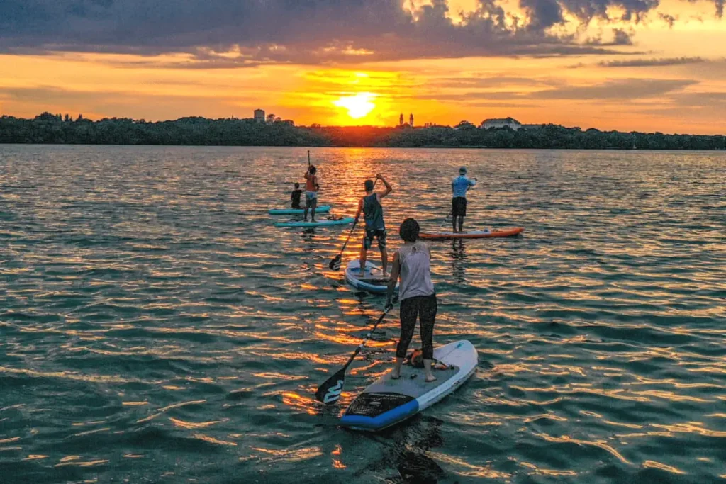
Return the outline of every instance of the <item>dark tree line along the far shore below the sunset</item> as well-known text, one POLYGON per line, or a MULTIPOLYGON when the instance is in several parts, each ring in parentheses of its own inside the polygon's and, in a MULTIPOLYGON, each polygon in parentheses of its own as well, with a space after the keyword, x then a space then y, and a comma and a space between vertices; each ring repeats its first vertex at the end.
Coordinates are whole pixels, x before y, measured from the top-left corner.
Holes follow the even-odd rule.
POLYGON ((196 146, 482 147, 534 149, 726 149, 726 137, 624 133, 544 124, 513 131, 457 126, 295 126, 268 115, 252 118, 181 118, 147 122, 129 118, 92 121, 44 112, 33 119, 2 116, 0 143, 171 144, 196 146))

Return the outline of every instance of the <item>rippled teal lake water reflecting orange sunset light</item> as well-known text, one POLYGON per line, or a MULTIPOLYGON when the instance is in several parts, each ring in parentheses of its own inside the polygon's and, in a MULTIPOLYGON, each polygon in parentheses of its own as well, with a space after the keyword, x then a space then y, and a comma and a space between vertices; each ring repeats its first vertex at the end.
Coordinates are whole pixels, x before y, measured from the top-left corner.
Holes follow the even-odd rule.
POLYGON ((314 401, 385 300, 328 270, 345 226, 272 226, 306 149, 0 145, 2 483, 726 479, 726 153, 311 155, 334 213, 388 177, 391 247, 444 225, 460 165, 470 229, 526 228, 431 244, 435 342, 474 343, 472 379, 337 427, 390 369, 391 313, 314 401))

